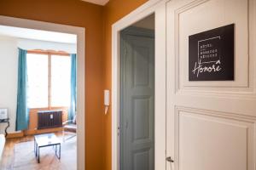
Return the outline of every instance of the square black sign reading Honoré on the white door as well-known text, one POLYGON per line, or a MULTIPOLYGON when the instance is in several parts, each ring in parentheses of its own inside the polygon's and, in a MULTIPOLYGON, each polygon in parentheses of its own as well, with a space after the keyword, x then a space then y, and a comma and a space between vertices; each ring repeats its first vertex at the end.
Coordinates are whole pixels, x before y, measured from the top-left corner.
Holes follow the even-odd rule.
POLYGON ((235 25, 189 36, 189 81, 234 80, 235 25))

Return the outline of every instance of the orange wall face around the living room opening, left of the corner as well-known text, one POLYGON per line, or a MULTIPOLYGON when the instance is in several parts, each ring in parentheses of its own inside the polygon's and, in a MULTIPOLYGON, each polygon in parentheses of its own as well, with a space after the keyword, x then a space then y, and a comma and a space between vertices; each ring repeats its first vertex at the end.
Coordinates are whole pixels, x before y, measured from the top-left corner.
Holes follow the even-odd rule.
POLYGON ((0 15, 81 26, 86 29, 86 170, 104 169, 102 8, 80 0, 0 0, 0 15))

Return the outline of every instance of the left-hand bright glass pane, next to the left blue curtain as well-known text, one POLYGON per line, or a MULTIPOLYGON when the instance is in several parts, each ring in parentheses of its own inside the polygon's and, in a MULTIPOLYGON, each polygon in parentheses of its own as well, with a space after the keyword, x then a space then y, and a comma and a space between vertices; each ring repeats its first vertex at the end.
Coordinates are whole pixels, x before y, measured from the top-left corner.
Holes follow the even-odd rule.
POLYGON ((48 107, 48 55, 27 54, 27 105, 48 107))

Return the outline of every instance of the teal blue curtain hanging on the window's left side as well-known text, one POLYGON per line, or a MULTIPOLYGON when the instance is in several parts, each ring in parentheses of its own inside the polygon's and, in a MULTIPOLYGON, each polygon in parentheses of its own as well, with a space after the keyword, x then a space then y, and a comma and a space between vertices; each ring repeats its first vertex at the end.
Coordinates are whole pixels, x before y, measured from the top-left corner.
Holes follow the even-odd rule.
POLYGON ((26 50, 19 48, 19 63, 18 63, 18 94, 16 108, 16 130, 25 130, 28 127, 29 111, 26 104, 26 50))

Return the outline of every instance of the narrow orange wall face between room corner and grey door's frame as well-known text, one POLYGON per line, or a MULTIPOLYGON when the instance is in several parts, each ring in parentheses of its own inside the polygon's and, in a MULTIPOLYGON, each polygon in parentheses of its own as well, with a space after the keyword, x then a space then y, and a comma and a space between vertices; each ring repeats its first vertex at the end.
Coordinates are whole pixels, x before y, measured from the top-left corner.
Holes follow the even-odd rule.
MULTIPOLYGON (((123 18, 126 14, 139 7, 148 0, 110 0, 104 7, 104 72, 105 82, 104 87, 111 89, 111 26, 116 21, 123 18)), ((104 117, 104 169, 111 170, 111 108, 108 110, 108 115, 104 117)))

